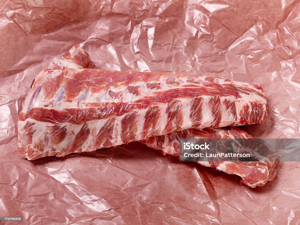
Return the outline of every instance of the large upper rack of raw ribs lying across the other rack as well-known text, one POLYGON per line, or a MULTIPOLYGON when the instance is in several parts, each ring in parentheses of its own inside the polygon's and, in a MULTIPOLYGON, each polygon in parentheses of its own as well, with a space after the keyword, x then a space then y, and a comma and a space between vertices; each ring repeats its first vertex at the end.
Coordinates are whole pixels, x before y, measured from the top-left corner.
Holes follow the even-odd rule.
MULTIPOLYGON (((85 51, 74 49, 56 68, 95 66, 85 51), (74 49, 83 56, 73 57, 74 49)), ((23 103, 18 151, 28 159, 59 157, 176 130, 263 123, 268 113, 263 89, 250 83, 191 74, 44 70, 23 103)))

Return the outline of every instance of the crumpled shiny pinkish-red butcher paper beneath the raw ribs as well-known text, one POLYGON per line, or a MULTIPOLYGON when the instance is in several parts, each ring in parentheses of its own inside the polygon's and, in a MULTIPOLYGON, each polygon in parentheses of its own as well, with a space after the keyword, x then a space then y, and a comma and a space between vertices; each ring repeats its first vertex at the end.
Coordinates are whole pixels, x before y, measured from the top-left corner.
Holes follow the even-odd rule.
POLYGON ((271 116, 242 129, 299 138, 299 1, 8 0, 0 15, 0 216, 24 217, 19 224, 299 223, 299 162, 281 163, 273 181, 251 189, 140 143, 35 161, 16 150, 32 80, 73 45, 104 69, 261 85, 271 116))

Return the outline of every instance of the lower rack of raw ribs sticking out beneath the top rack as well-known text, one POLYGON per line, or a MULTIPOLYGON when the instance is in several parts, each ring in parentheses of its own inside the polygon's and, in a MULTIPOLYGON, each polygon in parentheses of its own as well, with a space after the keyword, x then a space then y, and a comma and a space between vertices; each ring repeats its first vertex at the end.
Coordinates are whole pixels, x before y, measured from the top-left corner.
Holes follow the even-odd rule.
MULTIPOLYGON (((141 143, 149 146, 152 149, 161 150, 164 155, 179 156, 179 140, 180 139, 241 139, 253 138, 238 128, 204 128, 187 129, 184 131, 174 131, 170 134, 162 136, 149 137, 141 143)), ((255 149, 253 149, 255 151, 255 149)), ((249 151, 250 152, 250 151, 249 151)), ((256 151, 257 152, 257 151, 256 151)), ((266 182, 275 178, 279 161, 277 155, 265 149, 264 156, 270 161, 256 162, 238 162, 238 161, 198 161, 197 163, 205 167, 214 167, 217 170, 228 174, 235 174, 241 177, 240 183, 246 184, 249 187, 263 186, 266 182)))

